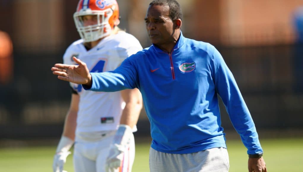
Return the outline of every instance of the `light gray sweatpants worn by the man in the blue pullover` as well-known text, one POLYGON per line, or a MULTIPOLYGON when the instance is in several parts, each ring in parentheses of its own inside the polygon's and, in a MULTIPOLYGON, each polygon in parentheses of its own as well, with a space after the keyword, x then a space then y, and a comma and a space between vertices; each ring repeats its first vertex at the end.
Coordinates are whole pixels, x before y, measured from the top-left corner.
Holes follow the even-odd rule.
POLYGON ((229 158, 226 148, 215 147, 191 154, 168 154, 149 150, 151 172, 227 172, 229 158))

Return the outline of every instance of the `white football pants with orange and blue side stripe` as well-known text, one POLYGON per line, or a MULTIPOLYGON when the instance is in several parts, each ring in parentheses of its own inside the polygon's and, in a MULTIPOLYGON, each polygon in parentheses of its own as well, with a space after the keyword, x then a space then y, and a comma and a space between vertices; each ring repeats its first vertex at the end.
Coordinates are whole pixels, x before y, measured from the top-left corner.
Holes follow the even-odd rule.
MULTIPOLYGON (((105 172, 105 163, 115 131, 99 131, 78 133, 74 145, 75 172, 105 172)), ((130 140, 129 149, 124 154, 122 166, 115 172, 131 172, 135 159, 134 135, 130 140)))

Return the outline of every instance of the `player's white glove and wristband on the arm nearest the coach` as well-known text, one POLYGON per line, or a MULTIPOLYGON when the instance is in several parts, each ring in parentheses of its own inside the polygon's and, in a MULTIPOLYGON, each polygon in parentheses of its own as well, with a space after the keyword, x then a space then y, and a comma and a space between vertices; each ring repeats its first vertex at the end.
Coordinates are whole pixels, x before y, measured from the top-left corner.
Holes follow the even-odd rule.
POLYGON ((120 167, 121 162, 123 161, 124 152, 127 150, 131 134, 131 127, 124 124, 119 125, 106 160, 106 171, 111 172, 120 167))

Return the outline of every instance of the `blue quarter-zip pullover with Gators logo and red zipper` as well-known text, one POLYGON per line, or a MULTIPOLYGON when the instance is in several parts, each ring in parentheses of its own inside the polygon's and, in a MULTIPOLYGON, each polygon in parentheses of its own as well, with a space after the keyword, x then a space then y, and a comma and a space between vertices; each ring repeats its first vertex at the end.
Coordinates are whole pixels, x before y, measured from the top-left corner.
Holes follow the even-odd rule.
POLYGON ((183 37, 170 53, 155 45, 112 72, 91 73, 93 91, 138 88, 151 123, 151 147, 187 154, 225 147, 218 96, 248 154, 261 153, 255 124, 236 81, 217 49, 183 37))

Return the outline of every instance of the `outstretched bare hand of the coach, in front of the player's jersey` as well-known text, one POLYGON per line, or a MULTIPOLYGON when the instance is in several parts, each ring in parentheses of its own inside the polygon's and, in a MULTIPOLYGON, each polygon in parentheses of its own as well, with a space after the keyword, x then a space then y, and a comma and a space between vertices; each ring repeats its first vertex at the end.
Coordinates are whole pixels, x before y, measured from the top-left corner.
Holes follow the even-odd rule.
POLYGON ((73 82, 75 84, 92 84, 92 75, 89 74, 89 70, 86 63, 73 57, 73 60, 78 65, 65 65, 65 64, 55 64, 52 67, 53 74, 58 75, 58 79, 63 81, 73 82))

